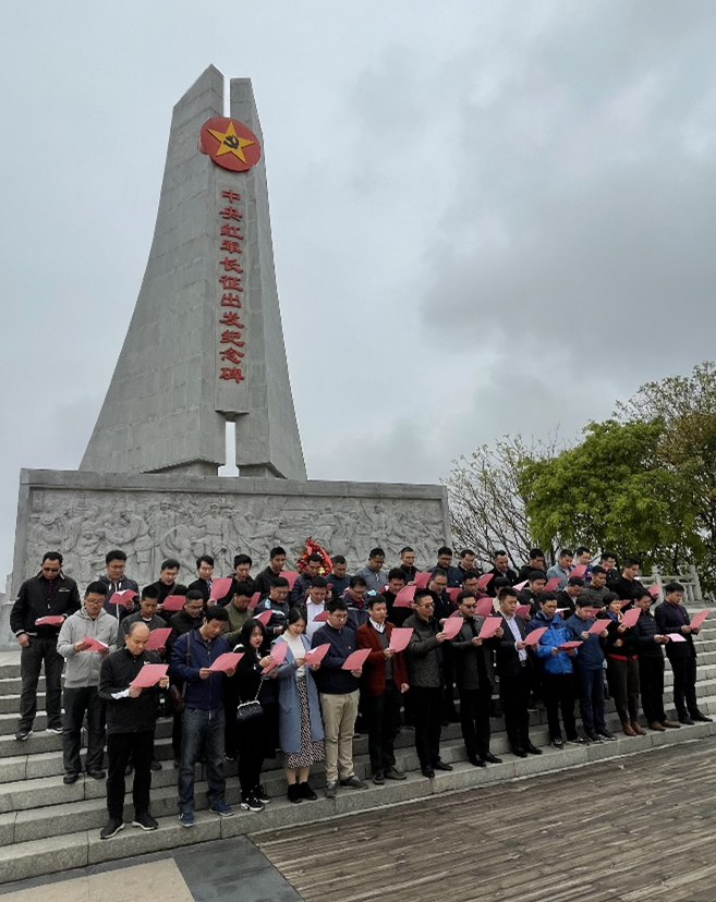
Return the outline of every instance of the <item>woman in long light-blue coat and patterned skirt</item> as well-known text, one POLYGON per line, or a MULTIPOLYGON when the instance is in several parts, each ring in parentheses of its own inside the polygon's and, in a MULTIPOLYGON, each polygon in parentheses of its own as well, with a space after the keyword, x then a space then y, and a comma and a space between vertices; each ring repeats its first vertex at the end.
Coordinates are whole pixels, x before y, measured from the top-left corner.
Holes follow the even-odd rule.
POLYGON ((326 757, 318 691, 312 674, 319 665, 306 665, 311 643, 305 629, 305 614, 292 608, 286 632, 274 643, 284 642, 289 646, 278 667, 278 679, 279 746, 286 755, 283 767, 290 802, 304 799, 313 802, 317 797, 308 784, 308 771, 313 764, 326 757))

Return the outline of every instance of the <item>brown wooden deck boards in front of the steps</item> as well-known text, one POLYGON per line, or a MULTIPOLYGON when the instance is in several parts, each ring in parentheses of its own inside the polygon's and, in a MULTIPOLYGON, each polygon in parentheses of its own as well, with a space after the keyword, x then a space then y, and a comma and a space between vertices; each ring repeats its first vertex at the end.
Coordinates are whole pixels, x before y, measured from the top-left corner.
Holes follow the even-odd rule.
POLYGON ((704 740, 251 839, 306 902, 716 902, 715 758, 704 740))

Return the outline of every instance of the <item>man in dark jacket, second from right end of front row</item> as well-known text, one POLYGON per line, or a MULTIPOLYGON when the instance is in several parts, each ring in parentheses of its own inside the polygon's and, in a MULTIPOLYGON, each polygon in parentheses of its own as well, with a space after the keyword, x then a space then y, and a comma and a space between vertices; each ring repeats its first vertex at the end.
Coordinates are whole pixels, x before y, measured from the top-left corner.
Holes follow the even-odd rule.
POLYGON ((636 660, 639 661, 639 687, 642 709, 648 729, 658 733, 667 727, 679 729, 678 720, 669 720, 664 710, 664 651, 669 637, 662 635, 650 610, 654 599, 645 588, 634 593, 634 606, 641 611, 634 625, 636 660))

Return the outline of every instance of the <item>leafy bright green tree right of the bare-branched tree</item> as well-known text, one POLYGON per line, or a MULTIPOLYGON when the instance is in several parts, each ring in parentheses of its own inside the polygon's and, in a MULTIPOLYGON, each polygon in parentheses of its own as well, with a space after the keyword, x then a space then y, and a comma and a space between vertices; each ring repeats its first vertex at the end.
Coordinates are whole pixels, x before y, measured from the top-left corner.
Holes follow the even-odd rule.
POLYGON ((646 566, 690 563, 701 543, 681 475, 660 465, 664 423, 591 423, 553 459, 523 461, 518 487, 538 543, 639 556, 646 566))

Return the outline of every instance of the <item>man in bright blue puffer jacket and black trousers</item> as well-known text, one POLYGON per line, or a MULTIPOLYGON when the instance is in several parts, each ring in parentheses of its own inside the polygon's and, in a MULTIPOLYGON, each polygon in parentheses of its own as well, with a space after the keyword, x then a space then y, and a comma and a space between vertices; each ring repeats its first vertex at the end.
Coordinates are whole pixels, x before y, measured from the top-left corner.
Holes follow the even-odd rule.
POLYGON ((562 749, 565 744, 559 726, 560 706, 567 742, 582 745, 584 740, 578 735, 577 721, 574 720, 572 658, 577 655, 577 648, 570 648, 567 651, 560 650, 560 645, 566 642, 573 642, 573 638, 556 611, 557 596, 555 593, 543 593, 539 610, 530 621, 530 630, 546 629, 546 632, 539 637, 535 653, 542 668, 542 694, 547 709, 550 741, 555 748, 562 749))

